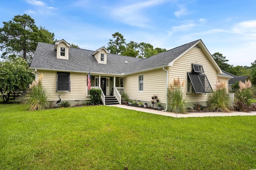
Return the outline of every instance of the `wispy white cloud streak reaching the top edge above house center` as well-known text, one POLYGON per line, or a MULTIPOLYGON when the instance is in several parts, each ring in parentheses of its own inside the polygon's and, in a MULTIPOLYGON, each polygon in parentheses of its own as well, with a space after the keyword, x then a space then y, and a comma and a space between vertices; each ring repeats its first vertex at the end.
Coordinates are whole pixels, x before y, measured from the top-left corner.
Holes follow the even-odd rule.
POLYGON ((114 7, 111 14, 112 16, 129 25, 146 27, 150 19, 142 13, 142 10, 157 6, 164 3, 166 0, 149 0, 145 2, 136 2, 126 6, 114 7))

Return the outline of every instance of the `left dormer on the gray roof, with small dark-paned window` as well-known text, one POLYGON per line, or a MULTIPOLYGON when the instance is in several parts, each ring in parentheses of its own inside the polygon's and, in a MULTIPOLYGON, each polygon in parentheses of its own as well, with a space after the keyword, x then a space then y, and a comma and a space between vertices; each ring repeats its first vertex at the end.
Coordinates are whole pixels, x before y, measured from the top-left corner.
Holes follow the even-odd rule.
POLYGON ((57 59, 68 60, 68 52, 71 45, 64 39, 56 41, 54 44, 54 49, 57 51, 57 59))

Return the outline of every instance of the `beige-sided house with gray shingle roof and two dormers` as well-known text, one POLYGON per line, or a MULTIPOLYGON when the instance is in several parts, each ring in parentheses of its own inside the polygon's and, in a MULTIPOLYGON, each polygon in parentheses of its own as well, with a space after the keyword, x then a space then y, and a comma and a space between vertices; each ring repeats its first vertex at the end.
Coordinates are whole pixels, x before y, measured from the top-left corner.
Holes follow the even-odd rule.
MULTIPOLYGON (((55 44, 38 43, 30 66, 36 76, 44 74, 42 83, 56 103, 84 104, 88 98, 87 75, 91 88, 102 90, 107 96, 125 92, 130 100, 151 104, 151 96, 166 104, 166 91, 174 78, 185 81, 186 102, 206 105, 208 93, 215 88, 218 78, 228 84, 230 76, 223 74, 201 39, 163 53, 138 59, 110 54, 104 47, 96 51, 70 47, 64 39, 55 44)), ((166 108, 166 107, 164 107, 166 108)))

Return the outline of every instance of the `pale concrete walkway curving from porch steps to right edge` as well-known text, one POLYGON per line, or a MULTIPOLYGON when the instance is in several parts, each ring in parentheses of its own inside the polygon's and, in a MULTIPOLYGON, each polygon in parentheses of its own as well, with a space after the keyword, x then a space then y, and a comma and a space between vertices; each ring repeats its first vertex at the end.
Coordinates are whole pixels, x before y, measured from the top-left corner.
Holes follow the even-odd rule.
POLYGON ((142 111, 142 112, 153 113, 153 114, 157 114, 157 115, 177 117, 177 118, 178 117, 213 117, 213 116, 256 116, 256 111, 252 111, 250 113, 235 111, 235 112, 232 112, 232 113, 206 112, 206 113, 176 114, 176 113, 167 112, 167 111, 160 111, 160 110, 154 110, 154 109, 145 109, 143 107, 133 107, 133 106, 120 105, 120 104, 107 105, 107 106, 120 107, 120 108, 124 108, 124 109, 142 111))

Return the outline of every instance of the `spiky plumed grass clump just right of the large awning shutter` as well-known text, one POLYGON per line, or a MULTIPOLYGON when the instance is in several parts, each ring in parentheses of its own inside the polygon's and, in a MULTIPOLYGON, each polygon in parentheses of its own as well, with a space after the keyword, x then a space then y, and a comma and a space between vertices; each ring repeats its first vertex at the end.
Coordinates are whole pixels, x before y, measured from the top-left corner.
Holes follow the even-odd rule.
POLYGON ((208 96, 208 109, 212 111, 221 111, 230 113, 233 110, 233 105, 229 94, 226 91, 226 83, 218 80, 216 90, 208 96))

